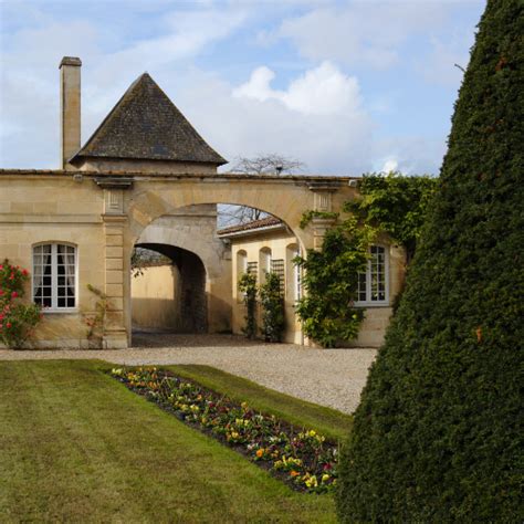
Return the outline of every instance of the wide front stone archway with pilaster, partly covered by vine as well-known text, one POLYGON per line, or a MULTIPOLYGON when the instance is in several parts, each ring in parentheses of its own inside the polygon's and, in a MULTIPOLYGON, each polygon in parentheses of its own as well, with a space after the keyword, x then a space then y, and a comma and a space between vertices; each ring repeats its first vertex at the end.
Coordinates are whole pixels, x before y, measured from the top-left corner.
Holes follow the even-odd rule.
POLYGON ((325 230, 334 222, 329 213, 355 197, 357 189, 348 178, 311 176, 247 175, 151 175, 97 176, 105 191, 103 216, 107 241, 122 239, 122 249, 106 243, 106 291, 114 310, 107 315, 107 345, 122 347, 130 337, 129 260, 133 247, 148 224, 196 205, 231 203, 261 209, 287 224, 302 251, 317 248, 325 230), (319 216, 305 229, 300 228, 304 211, 319 216), (118 251, 118 255, 116 252, 118 251), (120 259, 122 256, 122 259, 120 259), (120 259, 122 286, 116 265, 120 259), (114 291, 113 291, 114 290, 114 291), (122 290, 122 291, 120 291, 122 290), (122 304, 123 310, 118 308, 122 304))

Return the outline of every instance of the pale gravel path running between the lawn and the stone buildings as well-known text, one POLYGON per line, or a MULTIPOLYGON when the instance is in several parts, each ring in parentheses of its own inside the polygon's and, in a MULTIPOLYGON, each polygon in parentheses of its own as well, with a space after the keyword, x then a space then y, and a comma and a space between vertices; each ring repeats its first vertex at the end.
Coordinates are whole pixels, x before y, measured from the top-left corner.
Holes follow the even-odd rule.
POLYGON ((206 364, 272 389, 350 413, 358 405, 370 348, 313 349, 230 335, 137 333, 119 350, 6 350, 0 360, 101 359, 114 364, 206 364))

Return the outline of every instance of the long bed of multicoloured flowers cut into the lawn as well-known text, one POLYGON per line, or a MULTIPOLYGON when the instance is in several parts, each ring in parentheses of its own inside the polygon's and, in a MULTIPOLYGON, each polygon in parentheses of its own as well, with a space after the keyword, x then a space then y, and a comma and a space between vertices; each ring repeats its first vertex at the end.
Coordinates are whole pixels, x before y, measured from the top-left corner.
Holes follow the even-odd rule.
POLYGON ((300 491, 336 484, 337 447, 314 430, 295 430, 275 416, 157 368, 113 369, 112 375, 177 418, 241 452, 300 491))

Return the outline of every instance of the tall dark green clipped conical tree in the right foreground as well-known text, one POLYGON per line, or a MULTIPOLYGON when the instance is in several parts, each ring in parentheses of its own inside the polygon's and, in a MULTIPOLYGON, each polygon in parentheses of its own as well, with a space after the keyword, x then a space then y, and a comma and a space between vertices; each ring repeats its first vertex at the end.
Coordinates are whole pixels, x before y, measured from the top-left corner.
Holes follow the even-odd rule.
POLYGON ((343 450, 344 522, 522 522, 524 2, 489 0, 406 291, 343 450))

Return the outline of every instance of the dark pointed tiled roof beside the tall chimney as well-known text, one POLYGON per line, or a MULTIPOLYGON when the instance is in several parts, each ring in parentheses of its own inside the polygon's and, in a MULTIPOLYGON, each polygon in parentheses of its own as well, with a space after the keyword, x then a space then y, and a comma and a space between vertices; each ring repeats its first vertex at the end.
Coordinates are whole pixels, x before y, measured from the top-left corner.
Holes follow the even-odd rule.
POLYGON ((82 157, 227 164, 147 73, 129 86, 72 164, 82 157))

